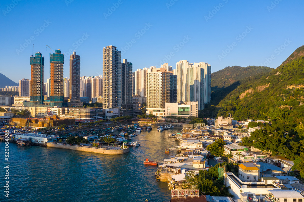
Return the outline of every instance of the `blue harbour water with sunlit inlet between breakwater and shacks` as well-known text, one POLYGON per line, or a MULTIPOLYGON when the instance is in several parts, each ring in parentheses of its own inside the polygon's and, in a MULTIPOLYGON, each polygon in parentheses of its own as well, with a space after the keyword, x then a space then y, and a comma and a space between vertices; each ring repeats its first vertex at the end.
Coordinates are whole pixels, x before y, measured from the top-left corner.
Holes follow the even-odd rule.
POLYGON ((5 143, 0 143, 0 201, 168 201, 167 183, 156 182, 157 170, 143 164, 146 158, 162 161, 171 154, 165 148, 178 145, 168 133, 182 128, 157 132, 143 131, 132 137, 141 146, 123 155, 32 146, 29 149, 9 143, 9 161, 4 160, 5 143), (4 162, 9 164, 9 198, 4 197, 4 162))

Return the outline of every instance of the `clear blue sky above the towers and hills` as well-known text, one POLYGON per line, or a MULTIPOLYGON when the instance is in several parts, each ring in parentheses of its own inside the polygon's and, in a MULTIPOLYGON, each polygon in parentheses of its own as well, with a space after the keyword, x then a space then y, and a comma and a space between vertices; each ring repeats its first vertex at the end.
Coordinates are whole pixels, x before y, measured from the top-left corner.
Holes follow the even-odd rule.
POLYGON ((133 71, 159 66, 166 56, 173 69, 179 60, 208 62, 212 72, 235 65, 276 68, 304 44, 303 8, 301 0, 2 0, 0 72, 15 82, 29 79, 32 44, 34 52, 44 56, 44 82, 51 52, 46 45, 69 55, 70 49, 76 50, 81 76, 102 75, 102 49, 107 45, 119 50, 127 46, 122 59, 133 63, 133 71), (20 44, 28 46, 23 50, 20 44), (283 50, 277 49, 281 46, 283 50), (226 50, 229 47, 233 49, 226 50))

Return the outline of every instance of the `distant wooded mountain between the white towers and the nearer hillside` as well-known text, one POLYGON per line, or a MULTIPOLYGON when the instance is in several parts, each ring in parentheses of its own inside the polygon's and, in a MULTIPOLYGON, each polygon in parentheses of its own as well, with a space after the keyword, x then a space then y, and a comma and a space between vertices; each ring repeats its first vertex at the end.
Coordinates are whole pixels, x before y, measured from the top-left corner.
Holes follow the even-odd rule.
POLYGON ((232 66, 221 69, 211 74, 211 86, 223 88, 232 85, 234 82, 240 81, 247 77, 255 76, 261 73, 271 72, 273 69, 264 66, 232 66))

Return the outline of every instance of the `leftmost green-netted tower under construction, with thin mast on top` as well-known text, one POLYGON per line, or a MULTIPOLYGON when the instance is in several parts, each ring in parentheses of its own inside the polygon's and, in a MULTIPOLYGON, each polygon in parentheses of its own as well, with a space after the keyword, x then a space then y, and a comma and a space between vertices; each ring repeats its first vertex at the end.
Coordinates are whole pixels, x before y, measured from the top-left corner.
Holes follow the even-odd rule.
POLYGON ((43 66, 44 58, 40 52, 30 57, 31 82, 30 82, 30 105, 42 105, 44 100, 43 91, 43 66))

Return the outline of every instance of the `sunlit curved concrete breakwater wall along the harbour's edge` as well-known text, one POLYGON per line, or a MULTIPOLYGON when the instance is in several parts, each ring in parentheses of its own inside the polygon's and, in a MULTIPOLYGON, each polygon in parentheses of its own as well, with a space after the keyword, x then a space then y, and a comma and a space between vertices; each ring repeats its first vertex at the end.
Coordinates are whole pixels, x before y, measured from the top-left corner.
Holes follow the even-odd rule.
POLYGON ((101 153, 101 154, 108 154, 108 155, 124 154, 124 153, 128 153, 130 151, 129 148, 106 149, 106 148, 96 148, 96 147, 91 147, 91 146, 78 146, 78 145, 69 145, 69 144, 52 143, 52 142, 47 142, 47 146, 60 148, 60 149, 77 150, 77 151, 101 153))

